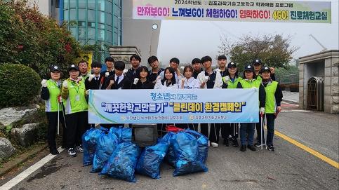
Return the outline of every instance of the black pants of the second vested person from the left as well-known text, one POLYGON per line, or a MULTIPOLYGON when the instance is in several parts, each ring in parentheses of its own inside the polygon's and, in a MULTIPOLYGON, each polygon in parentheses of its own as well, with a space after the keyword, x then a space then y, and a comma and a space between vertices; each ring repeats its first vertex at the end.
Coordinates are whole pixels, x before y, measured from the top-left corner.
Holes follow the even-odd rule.
POLYGON ((67 148, 73 148, 81 144, 81 137, 88 128, 87 111, 80 111, 66 115, 67 148))

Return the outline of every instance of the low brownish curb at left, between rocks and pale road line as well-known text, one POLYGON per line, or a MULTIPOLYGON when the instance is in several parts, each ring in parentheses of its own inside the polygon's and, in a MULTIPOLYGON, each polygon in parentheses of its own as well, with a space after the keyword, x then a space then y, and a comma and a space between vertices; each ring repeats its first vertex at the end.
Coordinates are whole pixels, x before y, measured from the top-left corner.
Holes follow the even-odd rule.
POLYGON ((42 144, 39 147, 36 147, 26 153, 18 155, 17 158, 14 158, 13 161, 8 161, 4 163, 4 167, 0 168, 0 176, 5 175, 7 172, 11 171, 13 168, 17 167, 21 163, 24 163, 29 158, 36 156, 39 152, 43 151, 48 147, 48 144, 42 144))

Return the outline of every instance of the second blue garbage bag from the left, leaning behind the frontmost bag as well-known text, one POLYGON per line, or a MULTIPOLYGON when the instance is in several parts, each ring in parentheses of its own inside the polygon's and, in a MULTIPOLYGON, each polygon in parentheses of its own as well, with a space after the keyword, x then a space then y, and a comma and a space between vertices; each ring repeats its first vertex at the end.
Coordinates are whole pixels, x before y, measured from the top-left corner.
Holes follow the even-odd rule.
POLYGON ((117 147, 117 144, 118 138, 116 135, 108 133, 108 130, 101 133, 97 141, 91 172, 100 172, 102 170, 109 156, 112 155, 114 149, 117 147))

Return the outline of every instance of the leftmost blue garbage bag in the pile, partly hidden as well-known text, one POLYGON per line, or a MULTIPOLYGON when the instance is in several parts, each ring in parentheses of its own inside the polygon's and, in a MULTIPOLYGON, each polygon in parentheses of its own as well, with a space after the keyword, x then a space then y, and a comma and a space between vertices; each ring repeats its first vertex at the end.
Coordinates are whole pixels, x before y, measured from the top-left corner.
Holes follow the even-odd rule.
POLYGON ((101 135, 101 130, 90 128, 82 135, 82 147, 84 148, 84 166, 92 165, 95 154, 96 142, 101 135))

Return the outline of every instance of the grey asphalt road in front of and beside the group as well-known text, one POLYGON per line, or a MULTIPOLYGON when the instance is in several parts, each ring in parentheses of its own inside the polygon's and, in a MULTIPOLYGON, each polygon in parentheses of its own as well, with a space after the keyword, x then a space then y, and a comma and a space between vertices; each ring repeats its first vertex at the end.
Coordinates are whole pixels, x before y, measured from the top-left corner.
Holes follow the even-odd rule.
MULTIPOLYGON (((338 162, 338 115, 283 106, 276 130, 338 162)), ((274 147, 210 148, 208 172, 173 177, 173 168, 163 163, 161 179, 136 175, 136 183, 90 173, 81 154, 69 158, 63 151, 13 189, 339 189, 338 168, 277 136, 274 147)))

